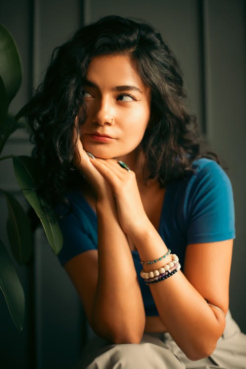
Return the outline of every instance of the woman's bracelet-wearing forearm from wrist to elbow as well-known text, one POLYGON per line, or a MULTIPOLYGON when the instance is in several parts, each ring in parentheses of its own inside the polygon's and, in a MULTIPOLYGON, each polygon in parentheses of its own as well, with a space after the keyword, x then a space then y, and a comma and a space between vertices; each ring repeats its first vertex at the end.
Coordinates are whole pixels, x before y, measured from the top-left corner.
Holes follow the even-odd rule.
MULTIPOLYGON (((132 235, 141 260, 163 255, 167 247, 152 225, 132 235)), ((144 265, 146 272, 168 263, 169 257, 155 264, 144 265)), ((224 328, 224 317, 215 314, 205 299, 179 271, 174 276, 150 285, 159 316, 168 332, 191 359, 208 356, 215 349, 224 328)))

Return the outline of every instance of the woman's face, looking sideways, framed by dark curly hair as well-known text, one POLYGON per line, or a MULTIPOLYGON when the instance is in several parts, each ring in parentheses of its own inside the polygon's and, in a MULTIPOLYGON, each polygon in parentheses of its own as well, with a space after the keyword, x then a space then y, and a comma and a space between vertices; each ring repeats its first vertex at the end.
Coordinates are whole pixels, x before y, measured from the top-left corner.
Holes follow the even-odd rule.
POLYGON ((103 159, 132 153, 150 119, 151 92, 123 55, 92 59, 84 86, 86 122, 81 141, 86 151, 103 159))

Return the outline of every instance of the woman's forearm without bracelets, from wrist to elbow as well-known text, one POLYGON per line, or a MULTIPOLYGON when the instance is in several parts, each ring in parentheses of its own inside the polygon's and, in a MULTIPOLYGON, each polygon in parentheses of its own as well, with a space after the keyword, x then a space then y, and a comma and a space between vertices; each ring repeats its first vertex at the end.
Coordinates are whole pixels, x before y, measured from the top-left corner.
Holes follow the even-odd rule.
POLYGON ((142 338, 145 312, 132 254, 114 203, 96 205, 98 221, 98 281, 92 328, 113 342, 142 338))

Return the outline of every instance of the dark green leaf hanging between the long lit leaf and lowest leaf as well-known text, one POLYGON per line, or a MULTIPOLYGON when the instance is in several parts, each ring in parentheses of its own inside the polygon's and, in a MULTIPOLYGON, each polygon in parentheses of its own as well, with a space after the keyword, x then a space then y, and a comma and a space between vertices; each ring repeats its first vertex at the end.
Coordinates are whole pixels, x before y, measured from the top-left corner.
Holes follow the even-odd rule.
POLYGON ((8 206, 7 233, 13 255, 19 264, 26 264, 33 248, 29 217, 10 193, 2 193, 8 206))

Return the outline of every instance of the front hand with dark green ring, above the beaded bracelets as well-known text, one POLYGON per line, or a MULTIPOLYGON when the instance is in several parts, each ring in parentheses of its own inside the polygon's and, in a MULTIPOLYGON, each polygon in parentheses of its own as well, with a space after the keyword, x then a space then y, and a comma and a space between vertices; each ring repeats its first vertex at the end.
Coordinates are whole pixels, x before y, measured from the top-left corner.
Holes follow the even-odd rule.
POLYGON ((122 168, 115 159, 90 159, 93 166, 111 185, 123 231, 132 236, 150 223, 140 197, 133 171, 122 168))

